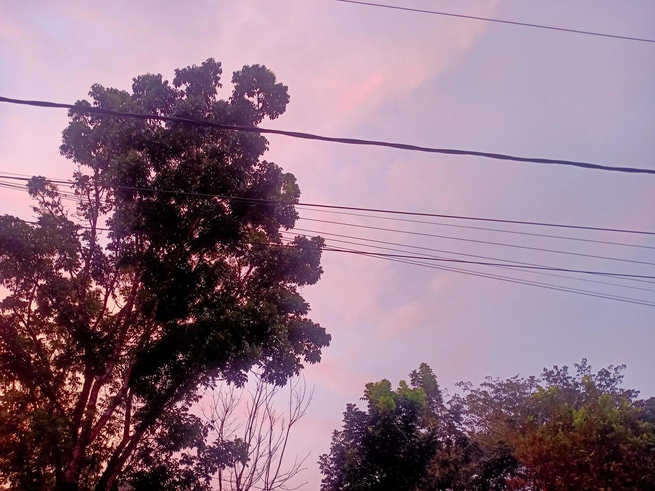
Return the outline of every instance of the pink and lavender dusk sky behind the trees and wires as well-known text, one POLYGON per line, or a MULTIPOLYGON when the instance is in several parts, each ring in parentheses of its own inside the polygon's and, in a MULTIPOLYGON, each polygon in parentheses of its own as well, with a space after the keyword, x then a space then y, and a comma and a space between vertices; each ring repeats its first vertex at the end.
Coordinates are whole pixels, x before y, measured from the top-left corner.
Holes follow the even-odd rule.
MULTIPOLYGON (((648 0, 395 3, 655 38, 655 3, 648 0)), ((177 67, 214 57, 223 64, 223 97, 229 96, 231 72, 245 64, 265 64, 289 86, 287 112, 265 122, 273 128, 655 168, 652 43, 331 0, 10 4, 0 17, 0 94, 10 98, 73 103, 96 82, 129 89, 137 75, 162 73, 171 80, 177 67)), ((58 153, 66 122, 63 110, 0 105, 0 171, 71 175, 71 162, 58 153)), ((269 140, 265 158, 295 174, 304 202, 655 230, 651 175, 281 136, 269 140)), ((31 215, 26 196, 7 189, 0 190, 0 213, 31 215)), ((306 219, 655 263, 645 248, 316 211, 301 216, 305 219, 297 227, 333 234, 506 261, 655 275, 655 266, 648 264, 306 219)), ((648 236, 529 231, 655 245, 648 236)), ((388 378, 396 384, 423 361, 443 386, 452 388, 459 380, 536 374, 587 357, 597 368, 626 363, 626 385, 646 397, 655 395, 652 307, 356 255, 326 252, 322 264, 320 282, 303 289, 312 319, 333 338, 322 362, 305 370, 315 398, 291 449, 311 452, 302 479, 308 482, 305 489, 318 488, 315 462, 328 450, 346 403, 358 401, 366 382, 388 378)), ((514 271, 498 274, 607 291, 594 283, 514 271)), ((621 289, 618 295, 652 300, 654 293, 621 289)))

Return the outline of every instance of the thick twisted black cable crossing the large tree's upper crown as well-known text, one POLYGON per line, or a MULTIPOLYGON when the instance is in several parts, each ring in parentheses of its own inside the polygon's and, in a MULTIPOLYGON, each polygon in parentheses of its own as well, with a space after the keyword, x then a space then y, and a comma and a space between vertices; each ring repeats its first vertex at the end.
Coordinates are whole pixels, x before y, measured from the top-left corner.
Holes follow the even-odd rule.
POLYGON ((495 158, 496 160, 511 160, 513 162, 531 162, 533 164, 555 164, 555 165, 574 166, 574 167, 593 169, 593 170, 606 170, 612 172, 655 174, 655 169, 604 166, 600 164, 591 164, 589 162, 576 162, 574 160, 559 160, 554 158, 537 158, 537 157, 518 157, 513 155, 504 155, 501 153, 477 152, 472 150, 437 149, 432 147, 419 147, 417 145, 407 145, 406 143, 392 143, 389 141, 375 141, 375 140, 365 140, 365 139, 356 139, 356 138, 337 138, 337 137, 319 136, 310 133, 291 132, 285 130, 272 130, 271 128, 261 128, 258 126, 234 126, 231 124, 222 124, 213 121, 203 121, 203 120, 189 119, 189 118, 179 118, 175 116, 164 116, 164 115, 149 114, 149 113, 125 113, 123 111, 113 111, 112 109, 103 109, 102 107, 86 107, 86 106, 78 106, 78 105, 64 104, 58 102, 28 101, 28 100, 20 100, 20 99, 10 99, 6 97, 0 97, 0 102, 8 102, 12 104, 22 104, 22 105, 33 105, 37 107, 56 107, 61 109, 69 109, 70 111, 73 111, 75 113, 104 114, 104 115, 118 116, 123 118, 137 118, 143 120, 153 119, 159 121, 181 122, 185 124, 193 124, 195 126, 207 126, 209 128, 217 128, 219 130, 284 135, 294 138, 331 141, 333 143, 346 143, 349 145, 373 145, 377 147, 390 147, 394 149, 409 150, 409 151, 416 151, 416 152, 442 153, 447 155, 471 155, 471 156, 479 156, 485 158, 495 158))

